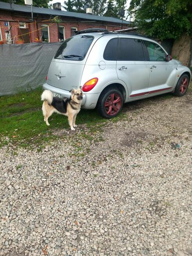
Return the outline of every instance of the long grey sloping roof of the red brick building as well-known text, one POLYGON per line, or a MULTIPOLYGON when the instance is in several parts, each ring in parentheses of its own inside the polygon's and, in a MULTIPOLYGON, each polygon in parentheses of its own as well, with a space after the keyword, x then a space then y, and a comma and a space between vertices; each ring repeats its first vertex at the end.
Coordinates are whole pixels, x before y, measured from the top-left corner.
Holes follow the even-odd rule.
MULTIPOLYGON (((31 6, 18 5, 18 4, 12 4, 12 6, 11 6, 9 3, 5 3, 5 2, 0 2, 0 9, 31 13, 31 6)), ((65 16, 65 17, 70 17, 70 18, 79 18, 79 19, 84 19, 84 20, 97 20, 97 21, 101 21, 101 22, 113 22, 113 23, 121 23, 122 24, 122 20, 117 19, 117 18, 98 16, 98 15, 92 15, 92 14, 86 14, 86 13, 73 13, 73 12, 68 12, 68 11, 59 11, 59 10, 39 8, 39 7, 34 7, 34 6, 33 6, 33 13, 58 15, 58 16, 65 16)), ((128 24, 131 24, 131 22, 127 22, 124 20, 123 24, 128 25, 128 24)))

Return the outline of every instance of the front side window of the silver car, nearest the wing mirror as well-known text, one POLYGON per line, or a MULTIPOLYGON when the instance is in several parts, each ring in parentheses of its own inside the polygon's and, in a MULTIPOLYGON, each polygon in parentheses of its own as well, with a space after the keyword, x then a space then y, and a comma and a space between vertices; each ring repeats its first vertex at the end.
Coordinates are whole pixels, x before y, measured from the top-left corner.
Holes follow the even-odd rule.
POLYGON ((149 61, 165 61, 166 53, 159 45, 145 40, 144 43, 149 53, 149 61))

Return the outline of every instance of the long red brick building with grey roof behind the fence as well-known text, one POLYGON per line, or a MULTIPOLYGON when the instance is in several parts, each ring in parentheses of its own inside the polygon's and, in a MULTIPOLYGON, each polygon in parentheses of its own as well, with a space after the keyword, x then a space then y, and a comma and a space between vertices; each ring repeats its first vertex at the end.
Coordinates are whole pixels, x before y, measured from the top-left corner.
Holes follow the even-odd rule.
POLYGON ((130 27, 130 22, 125 20, 58 9, 33 7, 32 13, 31 6, 0 2, 0 41, 14 43, 21 39, 32 43, 38 38, 54 43, 83 29, 99 27, 114 31, 130 27), (59 16, 62 22, 50 20, 55 16, 59 16))

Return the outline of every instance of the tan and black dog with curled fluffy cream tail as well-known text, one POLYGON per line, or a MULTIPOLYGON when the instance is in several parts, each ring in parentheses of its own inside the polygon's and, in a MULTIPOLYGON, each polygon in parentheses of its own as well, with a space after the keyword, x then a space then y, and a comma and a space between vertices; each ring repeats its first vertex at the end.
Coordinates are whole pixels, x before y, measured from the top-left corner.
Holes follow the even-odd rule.
POLYGON ((81 109, 81 101, 83 99, 83 92, 81 86, 77 89, 70 90, 71 96, 63 100, 59 97, 53 97, 52 92, 45 90, 41 95, 43 101, 43 116, 47 125, 48 118, 55 112, 57 114, 68 116, 69 125, 71 130, 74 131, 77 125, 75 124, 76 116, 81 109))

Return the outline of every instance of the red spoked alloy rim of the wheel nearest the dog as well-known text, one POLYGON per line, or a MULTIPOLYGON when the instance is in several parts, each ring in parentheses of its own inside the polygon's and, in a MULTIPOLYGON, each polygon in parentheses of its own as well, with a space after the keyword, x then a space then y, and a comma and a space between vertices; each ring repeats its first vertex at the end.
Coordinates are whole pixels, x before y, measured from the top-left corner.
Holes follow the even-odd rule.
POLYGON ((105 111, 108 115, 116 115, 122 105, 122 100, 119 94, 113 93, 105 101, 105 111))

